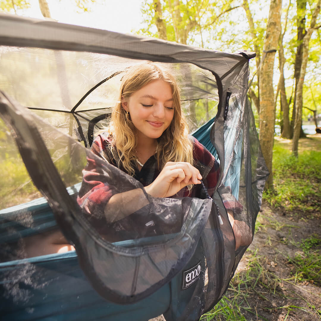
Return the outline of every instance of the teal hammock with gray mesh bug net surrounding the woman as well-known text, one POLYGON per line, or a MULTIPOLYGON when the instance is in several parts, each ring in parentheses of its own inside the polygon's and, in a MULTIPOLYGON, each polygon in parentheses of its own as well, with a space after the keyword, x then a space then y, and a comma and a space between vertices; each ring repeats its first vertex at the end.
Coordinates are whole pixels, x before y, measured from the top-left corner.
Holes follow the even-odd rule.
POLYGON ((247 248, 235 251, 225 198, 241 204, 236 218, 253 235, 268 175, 246 99, 254 55, 10 15, 0 16, 0 30, 1 314, 198 320, 247 248), (171 69, 193 135, 219 161, 213 201, 153 198, 89 150, 122 74, 142 60, 171 69), (114 195, 140 190, 143 207, 117 224, 82 211, 76 196, 88 159, 114 195), (43 251, 58 229, 76 251, 43 251))

